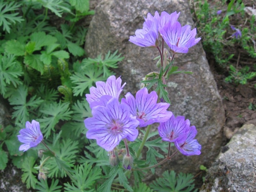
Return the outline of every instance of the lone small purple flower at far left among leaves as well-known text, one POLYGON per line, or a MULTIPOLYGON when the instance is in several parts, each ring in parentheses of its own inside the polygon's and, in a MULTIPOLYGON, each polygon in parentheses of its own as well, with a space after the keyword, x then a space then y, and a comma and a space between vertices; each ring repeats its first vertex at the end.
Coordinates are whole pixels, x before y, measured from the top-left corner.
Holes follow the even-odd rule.
POLYGON ((31 123, 27 121, 26 128, 21 129, 19 133, 20 135, 17 135, 18 139, 20 142, 24 143, 19 147, 20 151, 27 151, 31 147, 36 147, 43 140, 39 122, 35 120, 32 120, 31 123))

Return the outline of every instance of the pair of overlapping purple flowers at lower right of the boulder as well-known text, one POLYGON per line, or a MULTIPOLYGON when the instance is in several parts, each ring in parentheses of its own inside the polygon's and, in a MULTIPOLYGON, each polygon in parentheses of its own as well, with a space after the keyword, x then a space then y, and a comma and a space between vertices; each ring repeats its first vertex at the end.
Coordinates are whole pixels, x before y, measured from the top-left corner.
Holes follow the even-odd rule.
POLYGON ((173 142, 176 148, 184 155, 199 155, 201 145, 195 138, 197 130, 195 126, 190 126, 188 119, 184 116, 174 115, 158 127, 159 135, 163 141, 173 142))

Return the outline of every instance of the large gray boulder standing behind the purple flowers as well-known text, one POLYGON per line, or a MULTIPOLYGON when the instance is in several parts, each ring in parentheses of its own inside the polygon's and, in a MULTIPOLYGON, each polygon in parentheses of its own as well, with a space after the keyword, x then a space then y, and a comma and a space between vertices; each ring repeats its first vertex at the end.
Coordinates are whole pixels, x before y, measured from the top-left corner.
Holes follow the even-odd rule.
MULTIPOLYGON (((157 49, 139 47, 128 41, 136 29, 142 28, 143 16, 148 12, 154 15, 155 11, 177 11, 181 12, 178 21, 194 28, 187 0, 102 0, 95 11, 86 36, 86 53, 96 57, 118 49, 125 56, 115 71, 127 83, 125 93, 136 93, 140 80, 147 73, 158 70, 152 60, 158 56, 157 49)), ((197 127, 196 138, 202 145, 202 153, 190 157, 179 154, 165 165, 165 169, 195 174, 199 165, 209 166, 219 153, 225 112, 200 43, 190 48, 188 54, 175 56, 175 63, 180 70, 192 71, 193 75, 173 75, 168 80, 170 110, 175 116, 185 116, 197 127)), ((162 169, 156 169, 157 175, 161 173, 162 169)))

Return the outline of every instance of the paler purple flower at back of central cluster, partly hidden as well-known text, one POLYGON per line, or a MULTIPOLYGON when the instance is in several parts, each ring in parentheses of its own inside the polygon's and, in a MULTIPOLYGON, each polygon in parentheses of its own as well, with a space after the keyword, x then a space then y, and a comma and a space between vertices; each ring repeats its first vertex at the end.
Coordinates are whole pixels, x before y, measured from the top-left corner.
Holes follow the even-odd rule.
MULTIPOLYGON (((122 80, 120 77, 116 79, 114 75, 110 76, 106 83, 102 81, 96 82, 96 87, 90 88, 90 94, 86 94, 86 100, 90 104, 90 108, 93 108, 94 106, 97 106, 99 103, 102 103, 100 101, 100 98, 102 95, 110 95, 111 97, 105 97, 104 99, 110 100, 112 97, 118 98, 120 93, 122 92, 124 86, 126 83, 124 83, 121 87, 122 80)), ((103 103, 105 103, 105 100, 103 100, 103 103)))

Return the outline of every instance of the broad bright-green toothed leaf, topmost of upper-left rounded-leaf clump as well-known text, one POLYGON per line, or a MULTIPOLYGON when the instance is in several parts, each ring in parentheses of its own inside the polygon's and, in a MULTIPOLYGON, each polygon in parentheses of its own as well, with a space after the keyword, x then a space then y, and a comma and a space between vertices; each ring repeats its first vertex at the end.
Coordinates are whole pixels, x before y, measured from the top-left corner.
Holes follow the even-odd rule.
POLYGON ((52 35, 46 35, 45 32, 32 33, 30 41, 35 42, 34 50, 41 50, 41 47, 51 45, 57 42, 57 38, 52 35))

